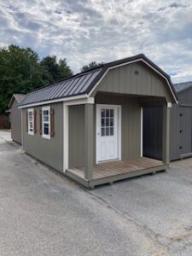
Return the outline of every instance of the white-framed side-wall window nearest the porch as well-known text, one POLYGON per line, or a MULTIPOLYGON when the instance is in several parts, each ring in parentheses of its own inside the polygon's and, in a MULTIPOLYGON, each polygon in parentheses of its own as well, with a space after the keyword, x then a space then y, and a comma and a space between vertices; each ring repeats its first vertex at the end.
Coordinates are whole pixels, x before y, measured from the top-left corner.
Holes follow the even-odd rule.
POLYGON ((50 138, 50 107, 42 108, 43 137, 50 138))

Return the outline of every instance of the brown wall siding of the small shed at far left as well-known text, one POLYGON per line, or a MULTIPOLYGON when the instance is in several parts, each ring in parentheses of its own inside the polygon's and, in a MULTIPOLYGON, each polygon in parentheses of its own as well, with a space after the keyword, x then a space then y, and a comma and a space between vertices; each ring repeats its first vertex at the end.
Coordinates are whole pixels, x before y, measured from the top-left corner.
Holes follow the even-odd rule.
POLYGON ((21 110, 16 101, 11 106, 11 138, 21 144, 21 110))

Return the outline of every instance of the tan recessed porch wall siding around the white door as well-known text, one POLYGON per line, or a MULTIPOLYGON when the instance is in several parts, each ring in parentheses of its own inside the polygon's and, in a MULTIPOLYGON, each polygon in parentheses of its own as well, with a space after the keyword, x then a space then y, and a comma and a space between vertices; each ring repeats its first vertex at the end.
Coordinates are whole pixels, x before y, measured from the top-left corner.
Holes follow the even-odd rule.
MULTIPOLYGON (((96 104, 121 105, 122 159, 140 157, 141 108, 137 98, 97 95, 96 104)), ((93 159, 96 163, 96 105, 94 106, 93 159)), ((84 105, 69 107, 69 167, 84 166, 84 105)))

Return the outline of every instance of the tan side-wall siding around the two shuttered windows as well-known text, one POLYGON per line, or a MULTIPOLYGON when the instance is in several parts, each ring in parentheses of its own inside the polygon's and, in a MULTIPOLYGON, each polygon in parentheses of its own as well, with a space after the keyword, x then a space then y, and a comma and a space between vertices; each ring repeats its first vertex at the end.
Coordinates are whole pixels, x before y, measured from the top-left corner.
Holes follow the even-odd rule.
POLYGON ((51 104, 55 109, 55 137, 50 140, 39 134, 39 110, 37 111, 37 133, 32 136, 26 132, 26 109, 23 109, 23 148, 27 154, 31 154, 38 160, 62 172, 63 168, 63 104, 51 104))

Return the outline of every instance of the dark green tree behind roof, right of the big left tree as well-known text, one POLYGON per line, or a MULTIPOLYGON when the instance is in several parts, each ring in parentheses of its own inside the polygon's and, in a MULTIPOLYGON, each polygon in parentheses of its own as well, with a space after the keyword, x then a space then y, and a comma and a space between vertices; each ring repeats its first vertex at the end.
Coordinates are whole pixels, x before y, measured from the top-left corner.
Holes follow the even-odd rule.
POLYGON ((59 79, 67 79, 73 75, 70 67, 67 66, 66 59, 56 61, 56 56, 46 56, 40 61, 41 67, 48 71, 49 83, 59 79))

